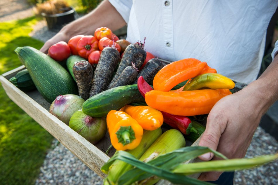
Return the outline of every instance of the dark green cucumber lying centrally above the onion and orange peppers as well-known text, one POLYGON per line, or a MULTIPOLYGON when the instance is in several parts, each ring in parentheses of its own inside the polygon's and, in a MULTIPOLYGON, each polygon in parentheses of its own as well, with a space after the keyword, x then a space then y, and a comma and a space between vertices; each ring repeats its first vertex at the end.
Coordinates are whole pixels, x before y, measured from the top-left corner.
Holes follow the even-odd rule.
POLYGON ((144 97, 140 94, 137 84, 124 85, 111 88, 90 97, 83 103, 84 114, 92 117, 107 116, 111 110, 119 110, 132 102, 144 102, 144 97))

